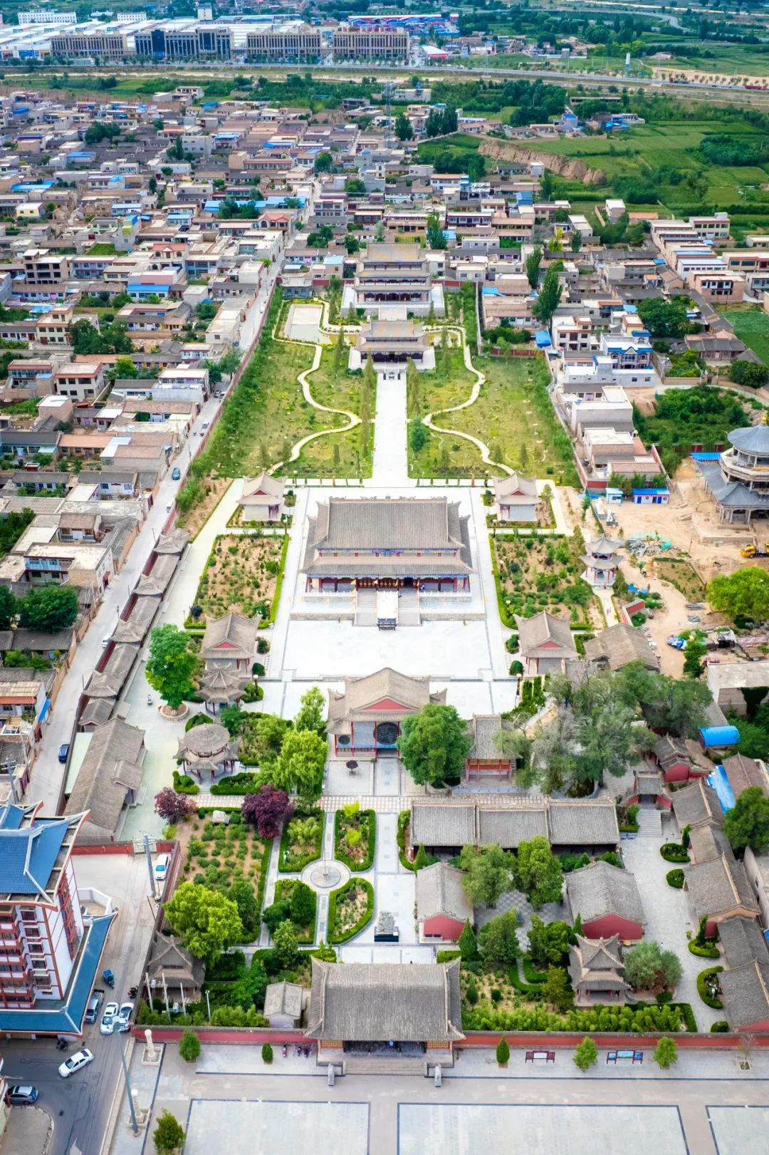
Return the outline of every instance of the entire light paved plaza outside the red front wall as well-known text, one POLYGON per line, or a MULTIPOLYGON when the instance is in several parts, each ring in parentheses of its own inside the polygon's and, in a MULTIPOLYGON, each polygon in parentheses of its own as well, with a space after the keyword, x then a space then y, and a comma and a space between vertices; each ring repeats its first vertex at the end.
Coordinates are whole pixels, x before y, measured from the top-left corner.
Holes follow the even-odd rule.
MULTIPOLYGON (((349 1155, 466 1155, 479 1137, 508 1155, 766 1153, 769 1057, 763 1055, 755 1071, 741 1076, 733 1057, 721 1052, 681 1053, 678 1066, 664 1072, 649 1056, 641 1067, 606 1066, 600 1049, 598 1065, 582 1074, 570 1051, 559 1050, 553 1066, 532 1067, 516 1049, 500 1070, 493 1051, 466 1049, 445 1072, 441 1088, 397 1074, 348 1075, 330 1088, 324 1080, 320 1085, 312 1059, 298 1074, 303 1060, 283 1059, 279 1046, 269 1067, 261 1064, 259 1046, 216 1048, 221 1063, 212 1061, 215 1046, 204 1043, 199 1064, 191 1065, 167 1044, 152 1098, 150 1126, 170 1110, 189 1131, 196 1153, 248 1155, 256 1133, 260 1150, 289 1149, 290 1138, 291 1149, 318 1155, 341 1148, 349 1155), (352 1106, 363 1116, 351 1115, 352 1106)), ((132 1080, 141 1078, 140 1052, 137 1045, 132 1080)), ((122 1139, 112 1147, 124 1149, 122 1139)))

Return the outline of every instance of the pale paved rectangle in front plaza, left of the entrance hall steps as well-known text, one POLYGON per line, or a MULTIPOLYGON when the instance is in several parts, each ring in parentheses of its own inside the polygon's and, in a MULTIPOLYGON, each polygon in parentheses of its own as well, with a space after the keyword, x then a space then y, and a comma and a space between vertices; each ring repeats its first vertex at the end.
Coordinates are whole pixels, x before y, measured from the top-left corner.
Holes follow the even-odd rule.
POLYGON ((367 1155, 368 1104, 194 1098, 185 1131, 185 1155, 367 1155))

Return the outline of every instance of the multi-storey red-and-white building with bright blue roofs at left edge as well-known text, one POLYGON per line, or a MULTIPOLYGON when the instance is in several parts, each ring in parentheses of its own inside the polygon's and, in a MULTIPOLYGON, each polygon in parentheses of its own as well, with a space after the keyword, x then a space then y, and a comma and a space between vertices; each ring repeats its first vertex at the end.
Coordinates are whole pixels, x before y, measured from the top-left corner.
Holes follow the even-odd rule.
POLYGON ((83 917, 72 850, 88 814, 0 807, 0 1031, 82 1033, 114 917, 83 917))

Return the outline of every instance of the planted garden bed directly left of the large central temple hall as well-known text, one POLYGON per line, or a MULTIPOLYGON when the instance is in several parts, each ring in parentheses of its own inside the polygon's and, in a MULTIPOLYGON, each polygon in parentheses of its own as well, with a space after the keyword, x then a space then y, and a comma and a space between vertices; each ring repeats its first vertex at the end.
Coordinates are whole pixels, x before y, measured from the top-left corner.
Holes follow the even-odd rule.
POLYGON ((288 536, 223 534, 214 543, 195 594, 208 619, 236 610, 269 618, 279 590, 288 536))

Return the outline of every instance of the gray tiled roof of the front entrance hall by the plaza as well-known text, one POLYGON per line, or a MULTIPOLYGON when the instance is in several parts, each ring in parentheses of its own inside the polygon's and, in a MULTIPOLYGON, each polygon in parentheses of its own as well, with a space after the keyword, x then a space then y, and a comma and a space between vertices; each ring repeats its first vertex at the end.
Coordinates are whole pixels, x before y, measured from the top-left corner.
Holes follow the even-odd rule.
POLYGON ((313 959, 306 1034, 342 1042, 453 1042, 464 1038, 460 960, 322 962, 313 959))

